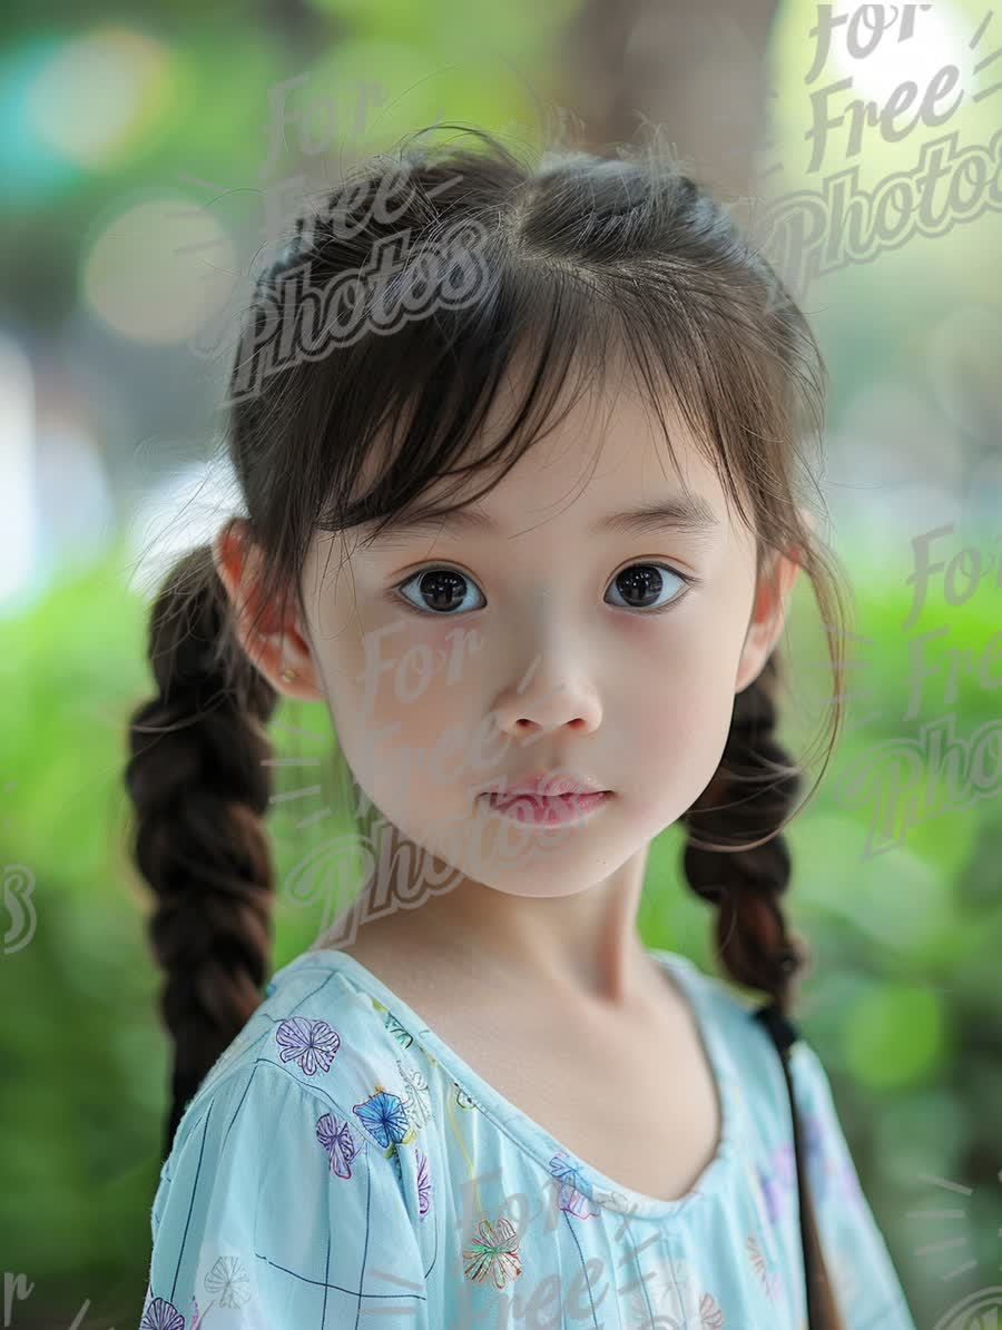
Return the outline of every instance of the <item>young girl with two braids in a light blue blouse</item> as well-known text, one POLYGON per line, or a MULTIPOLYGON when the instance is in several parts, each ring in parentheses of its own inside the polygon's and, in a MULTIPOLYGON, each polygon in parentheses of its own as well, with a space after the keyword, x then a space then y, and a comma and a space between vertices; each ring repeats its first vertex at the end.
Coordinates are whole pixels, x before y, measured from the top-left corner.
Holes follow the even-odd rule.
POLYGON ((230 380, 246 516, 153 605, 142 1327, 914 1330, 789 1020, 798 569, 844 621, 800 501, 817 346, 677 162, 468 133, 299 219, 230 380), (279 697, 325 702, 377 817, 262 1000, 279 697), (637 934, 679 821, 721 978, 637 934))

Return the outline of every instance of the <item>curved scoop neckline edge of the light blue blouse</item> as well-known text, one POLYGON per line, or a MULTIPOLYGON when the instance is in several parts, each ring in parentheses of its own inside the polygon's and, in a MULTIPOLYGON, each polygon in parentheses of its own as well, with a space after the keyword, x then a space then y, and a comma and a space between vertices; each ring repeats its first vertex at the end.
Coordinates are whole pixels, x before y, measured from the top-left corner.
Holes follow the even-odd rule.
MULTIPOLYGON (((318 966, 326 970, 345 971, 370 996, 375 996, 387 1011, 393 1012, 401 1024, 409 1028, 414 1039, 439 1063, 451 1080, 468 1092, 480 1112, 494 1125, 515 1142, 526 1154, 542 1165, 548 1176, 554 1176, 550 1164, 560 1157, 567 1176, 574 1178, 574 1186, 593 1205, 628 1214, 633 1218, 665 1218, 691 1210, 720 1192, 728 1174, 728 1166, 739 1144, 739 1095, 731 1072, 727 1053, 719 1041, 717 1031, 709 1016, 701 984, 705 976, 688 959, 671 951, 647 947, 647 954, 659 964, 669 982, 675 980, 676 992, 688 1004, 697 1036, 703 1044, 707 1061, 713 1072, 720 1105, 720 1140, 713 1157, 699 1174, 684 1196, 675 1200, 648 1196, 633 1188, 624 1186, 588 1164, 568 1145, 559 1141, 540 1123, 530 1117, 490 1081, 484 1080, 459 1053, 447 1044, 398 994, 378 979, 371 970, 355 960, 346 951, 330 947, 305 951, 278 970, 266 987, 266 994, 274 992, 278 982, 291 970, 318 966)), ((558 1176, 566 1176, 562 1170, 558 1176)))

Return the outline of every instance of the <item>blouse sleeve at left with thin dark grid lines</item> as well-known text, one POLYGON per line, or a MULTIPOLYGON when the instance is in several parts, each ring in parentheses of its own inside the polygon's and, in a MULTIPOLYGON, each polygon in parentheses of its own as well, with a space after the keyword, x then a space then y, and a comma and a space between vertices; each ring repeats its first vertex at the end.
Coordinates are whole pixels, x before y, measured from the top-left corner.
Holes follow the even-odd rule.
POLYGON ((189 1111, 153 1201, 140 1330, 428 1330, 395 1160, 354 1113, 263 1060, 189 1111))

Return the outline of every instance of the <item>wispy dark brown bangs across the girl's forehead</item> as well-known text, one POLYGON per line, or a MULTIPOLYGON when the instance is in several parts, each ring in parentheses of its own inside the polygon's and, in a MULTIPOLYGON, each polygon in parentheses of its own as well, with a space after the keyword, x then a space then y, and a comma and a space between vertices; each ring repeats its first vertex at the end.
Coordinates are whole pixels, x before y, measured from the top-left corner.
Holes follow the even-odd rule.
MULTIPOLYGON (((365 527, 366 548, 415 517, 475 504, 583 398, 597 410, 624 386, 659 423, 683 491, 680 431, 717 476, 732 513, 753 528, 732 469, 740 426, 719 406, 712 330, 692 317, 680 321, 679 305, 664 277, 660 286, 624 287, 575 270, 499 269, 475 303, 397 334, 386 402, 361 443, 363 466, 350 491, 341 473, 331 476, 317 528, 365 527)), ((365 344, 355 354, 363 360, 371 351, 365 344)), ((753 388, 747 368, 745 403, 753 388)), ((331 420, 343 422, 349 408, 335 387, 331 420)), ((600 447, 599 439, 596 458, 600 447)))

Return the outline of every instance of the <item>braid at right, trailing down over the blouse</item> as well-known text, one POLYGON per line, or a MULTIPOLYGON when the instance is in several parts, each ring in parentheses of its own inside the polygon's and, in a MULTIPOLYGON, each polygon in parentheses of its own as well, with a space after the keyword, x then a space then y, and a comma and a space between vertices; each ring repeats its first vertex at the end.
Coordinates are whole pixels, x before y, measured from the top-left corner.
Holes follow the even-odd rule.
POLYGON ((774 738, 777 685, 774 649, 758 677, 736 696, 720 767, 684 814, 689 838, 683 870, 692 890, 717 907, 716 950, 728 975, 770 995, 754 1015, 780 1053, 790 1101, 808 1325, 810 1330, 845 1330, 821 1250, 789 1068, 789 1049, 798 1037, 789 1020, 793 983, 809 967, 810 955, 802 939, 788 932, 780 906, 790 878, 781 829, 793 813, 802 777, 774 738), (727 853, 728 846, 736 849, 727 853))

